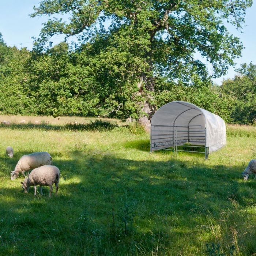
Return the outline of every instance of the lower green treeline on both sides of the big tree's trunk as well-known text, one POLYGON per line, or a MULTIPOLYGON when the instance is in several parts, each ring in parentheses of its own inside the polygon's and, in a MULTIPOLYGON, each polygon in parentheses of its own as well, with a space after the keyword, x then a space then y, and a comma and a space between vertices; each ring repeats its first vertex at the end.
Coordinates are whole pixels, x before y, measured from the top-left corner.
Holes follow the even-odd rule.
MULTIPOLYGON (((139 80, 130 79, 136 63, 129 63, 125 53, 99 48, 87 43, 70 49, 62 42, 38 53, 9 47, 0 34, 0 113, 138 118, 139 80)), ((221 86, 155 76, 150 106, 156 110, 170 101, 188 101, 228 123, 255 124, 256 65, 243 64, 237 72, 221 86)))

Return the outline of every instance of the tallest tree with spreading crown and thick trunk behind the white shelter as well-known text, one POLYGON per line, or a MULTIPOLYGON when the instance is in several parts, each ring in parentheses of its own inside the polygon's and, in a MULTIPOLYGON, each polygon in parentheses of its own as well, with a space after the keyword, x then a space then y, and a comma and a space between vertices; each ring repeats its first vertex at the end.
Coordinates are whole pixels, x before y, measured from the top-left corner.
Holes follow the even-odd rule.
MULTIPOLYGON (((132 91, 136 107, 148 117, 154 111, 158 75, 190 86, 211 79, 196 52, 211 63, 212 77, 226 74, 233 59, 241 56, 242 43, 228 33, 223 19, 241 30, 251 4, 252 0, 44 0, 34 7, 32 17, 70 18, 65 22, 53 17, 44 23, 35 49, 42 51, 54 34, 80 35, 83 43, 90 42, 91 58, 97 63, 114 57, 114 65, 105 68, 113 78, 108 82, 123 94, 127 88, 132 91), (111 25, 105 29, 108 20, 111 25)), ((148 118, 140 117, 147 124, 148 118)))

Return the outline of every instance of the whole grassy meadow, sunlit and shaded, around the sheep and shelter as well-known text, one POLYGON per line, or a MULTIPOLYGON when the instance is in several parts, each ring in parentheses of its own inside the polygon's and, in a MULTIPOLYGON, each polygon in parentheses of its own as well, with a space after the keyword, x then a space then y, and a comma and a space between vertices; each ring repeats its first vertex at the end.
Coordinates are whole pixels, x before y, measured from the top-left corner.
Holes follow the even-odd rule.
POLYGON ((99 132, 88 118, 15 118, 0 126, 0 255, 256 255, 256 181, 241 176, 256 158, 255 127, 227 127, 227 146, 204 160, 149 154, 149 135, 116 123, 99 132), (60 169, 57 197, 10 179, 35 151, 60 169))

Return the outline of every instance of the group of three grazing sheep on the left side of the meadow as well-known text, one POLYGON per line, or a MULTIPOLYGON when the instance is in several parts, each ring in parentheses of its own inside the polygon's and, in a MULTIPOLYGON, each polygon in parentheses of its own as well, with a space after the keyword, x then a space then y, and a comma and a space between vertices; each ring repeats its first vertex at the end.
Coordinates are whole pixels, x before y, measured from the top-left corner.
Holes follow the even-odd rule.
MULTIPOLYGON (((12 147, 6 148, 6 154, 9 157, 13 157, 14 150, 12 147)), ((49 186, 50 193, 52 195, 52 184, 55 184, 55 195, 57 195, 60 181, 60 170, 56 166, 52 165, 52 157, 47 152, 35 152, 29 155, 23 155, 15 166, 14 171, 11 171, 11 180, 15 180, 19 174, 22 173, 25 177, 22 184, 22 188, 25 193, 29 192, 29 188, 34 186, 34 196, 37 195, 37 185, 39 185, 40 193, 42 195, 42 186, 49 186), (25 176, 25 172, 29 172, 33 169, 29 176, 25 176)))

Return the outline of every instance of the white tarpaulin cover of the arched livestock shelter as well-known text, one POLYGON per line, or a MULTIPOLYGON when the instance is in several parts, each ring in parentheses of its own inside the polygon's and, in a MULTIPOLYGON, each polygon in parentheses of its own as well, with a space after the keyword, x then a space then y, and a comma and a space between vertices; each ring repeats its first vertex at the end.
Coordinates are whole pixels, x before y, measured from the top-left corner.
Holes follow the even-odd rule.
POLYGON ((187 142, 205 145, 209 153, 226 145, 226 126, 221 117, 189 102, 173 101, 159 108, 152 117, 151 151, 173 146, 174 127, 180 127, 180 145, 187 142), (205 128, 204 132, 196 132, 200 131, 198 127, 205 128), (167 138, 170 138, 169 144, 167 138))

